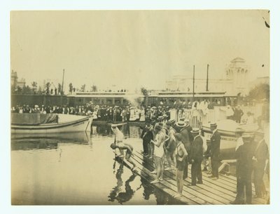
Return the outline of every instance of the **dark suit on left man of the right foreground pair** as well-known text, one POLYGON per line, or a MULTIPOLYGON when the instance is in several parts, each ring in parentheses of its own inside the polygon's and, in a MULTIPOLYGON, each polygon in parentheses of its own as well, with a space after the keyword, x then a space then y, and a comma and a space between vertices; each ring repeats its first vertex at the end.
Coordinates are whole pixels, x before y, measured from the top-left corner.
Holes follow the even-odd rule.
POLYGON ((252 180, 251 175, 253 171, 253 145, 251 142, 244 142, 236 151, 237 158, 237 179, 239 185, 237 188, 237 199, 236 201, 244 202, 244 187, 246 188, 246 203, 252 202, 252 180), (239 199, 239 196, 242 196, 239 199))

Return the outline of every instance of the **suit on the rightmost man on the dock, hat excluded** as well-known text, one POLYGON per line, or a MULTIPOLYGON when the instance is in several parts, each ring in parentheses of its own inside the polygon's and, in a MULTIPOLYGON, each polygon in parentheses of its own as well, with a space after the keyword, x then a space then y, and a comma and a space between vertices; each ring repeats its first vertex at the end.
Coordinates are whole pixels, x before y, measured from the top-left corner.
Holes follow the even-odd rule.
POLYGON ((269 152, 265 140, 262 140, 254 150, 253 156, 255 156, 256 161, 253 161, 253 182, 255 184, 255 194, 262 197, 266 194, 265 183, 263 182, 263 175, 265 174, 265 161, 269 159, 269 152))

